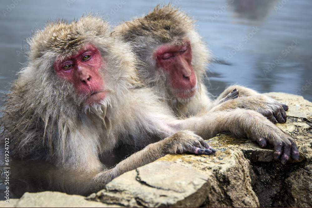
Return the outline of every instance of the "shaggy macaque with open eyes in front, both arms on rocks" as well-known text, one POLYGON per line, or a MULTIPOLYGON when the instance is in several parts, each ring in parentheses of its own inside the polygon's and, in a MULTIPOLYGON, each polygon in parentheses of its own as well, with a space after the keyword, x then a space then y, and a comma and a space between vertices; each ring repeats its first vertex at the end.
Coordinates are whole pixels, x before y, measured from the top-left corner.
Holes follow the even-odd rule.
POLYGON ((62 185, 66 192, 99 190, 168 153, 213 154, 202 138, 219 132, 268 141, 283 163, 299 159, 293 138, 255 111, 176 118, 150 89, 139 87, 131 45, 98 16, 47 23, 28 42, 28 61, 6 95, 1 140, 11 142, 11 157, 76 172, 75 182, 62 185), (100 154, 120 141, 145 148, 108 169, 100 154))

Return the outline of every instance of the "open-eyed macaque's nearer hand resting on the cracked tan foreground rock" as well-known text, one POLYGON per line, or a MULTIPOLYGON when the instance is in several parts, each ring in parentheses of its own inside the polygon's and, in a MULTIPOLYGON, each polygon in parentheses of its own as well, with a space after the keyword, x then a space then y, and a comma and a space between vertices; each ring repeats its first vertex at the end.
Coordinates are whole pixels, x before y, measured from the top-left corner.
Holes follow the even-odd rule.
POLYGON ((214 154, 216 150, 210 147, 200 136, 191 131, 179 131, 161 141, 167 154, 193 153, 196 155, 214 154))

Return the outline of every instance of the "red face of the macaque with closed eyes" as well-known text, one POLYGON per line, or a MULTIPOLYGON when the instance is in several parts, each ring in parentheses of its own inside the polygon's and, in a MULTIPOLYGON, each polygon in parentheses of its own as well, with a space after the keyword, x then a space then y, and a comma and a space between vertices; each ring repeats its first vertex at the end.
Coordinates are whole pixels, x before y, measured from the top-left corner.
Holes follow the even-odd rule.
POLYGON ((164 44, 155 52, 156 66, 168 74, 169 87, 178 98, 188 99, 196 92, 196 76, 193 71, 192 49, 190 41, 183 41, 181 45, 164 44))

